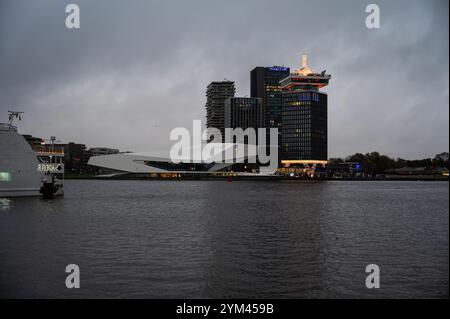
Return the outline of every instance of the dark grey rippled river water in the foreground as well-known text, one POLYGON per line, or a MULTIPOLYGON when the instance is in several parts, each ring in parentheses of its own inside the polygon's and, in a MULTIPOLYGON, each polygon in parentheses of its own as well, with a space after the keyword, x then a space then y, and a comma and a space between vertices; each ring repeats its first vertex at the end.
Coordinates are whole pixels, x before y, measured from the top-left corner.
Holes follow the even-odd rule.
POLYGON ((446 297, 446 182, 66 181, 0 199, 0 297, 446 297), (65 267, 81 288, 65 287, 65 267), (381 288, 365 288, 378 264, 381 288))

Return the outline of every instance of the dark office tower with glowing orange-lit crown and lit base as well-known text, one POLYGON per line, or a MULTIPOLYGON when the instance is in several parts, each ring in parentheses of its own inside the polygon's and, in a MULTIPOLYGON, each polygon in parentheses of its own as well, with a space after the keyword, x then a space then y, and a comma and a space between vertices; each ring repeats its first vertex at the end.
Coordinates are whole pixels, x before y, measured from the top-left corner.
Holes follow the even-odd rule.
POLYGON ((331 75, 316 73, 302 55, 302 66, 280 81, 282 88, 283 166, 326 164, 327 94, 320 91, 331 75))

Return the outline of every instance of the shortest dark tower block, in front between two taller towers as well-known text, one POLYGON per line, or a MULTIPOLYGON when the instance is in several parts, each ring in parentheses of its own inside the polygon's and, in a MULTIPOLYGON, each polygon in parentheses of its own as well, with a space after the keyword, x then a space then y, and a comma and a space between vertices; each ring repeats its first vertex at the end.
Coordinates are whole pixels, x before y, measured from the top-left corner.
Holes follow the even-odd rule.
POLYGON ((225 100, 225 127, 258 128, 263 127, 262 99, 257 97, 230 97, 225 100))

